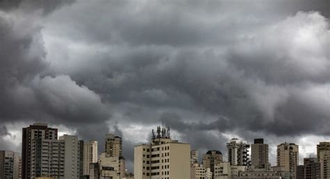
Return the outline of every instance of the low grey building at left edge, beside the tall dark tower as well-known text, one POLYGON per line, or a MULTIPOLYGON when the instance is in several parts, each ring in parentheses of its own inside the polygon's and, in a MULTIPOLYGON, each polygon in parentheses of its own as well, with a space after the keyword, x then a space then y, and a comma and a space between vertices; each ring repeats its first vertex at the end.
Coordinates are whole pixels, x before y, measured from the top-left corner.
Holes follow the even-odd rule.
POLYGON ((0 151, 0 178, 20 179, 20 156, 13 151, 0 151))

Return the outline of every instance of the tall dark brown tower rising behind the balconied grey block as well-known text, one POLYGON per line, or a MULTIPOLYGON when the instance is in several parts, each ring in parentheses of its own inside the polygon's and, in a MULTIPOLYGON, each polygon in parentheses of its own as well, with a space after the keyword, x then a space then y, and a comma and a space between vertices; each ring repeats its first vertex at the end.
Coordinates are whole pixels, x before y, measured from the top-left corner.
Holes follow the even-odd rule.
POLYGON ((22 179, 42 175, 42 142, 52 140, 57 140, 57 128, 48 128, 47 123, 33 123, 22 129, 22 179))

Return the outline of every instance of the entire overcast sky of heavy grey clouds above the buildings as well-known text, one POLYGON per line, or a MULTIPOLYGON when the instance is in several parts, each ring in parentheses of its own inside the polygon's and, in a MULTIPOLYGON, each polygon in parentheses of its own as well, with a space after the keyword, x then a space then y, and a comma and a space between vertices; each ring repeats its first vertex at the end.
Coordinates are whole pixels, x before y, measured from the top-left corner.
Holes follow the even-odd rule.
POLYGON ((299 144, 300 161, 330 140, 329 1, 1 0, 0 150, 22 127, 123 136, 164 123, 200 155, 263 137, 299 144))

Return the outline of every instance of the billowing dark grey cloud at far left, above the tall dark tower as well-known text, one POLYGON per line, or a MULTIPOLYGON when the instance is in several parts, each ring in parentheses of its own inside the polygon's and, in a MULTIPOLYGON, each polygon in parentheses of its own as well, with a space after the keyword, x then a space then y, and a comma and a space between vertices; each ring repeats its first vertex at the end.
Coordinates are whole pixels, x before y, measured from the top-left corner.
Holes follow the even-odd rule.
POLYGON ((42 26, 38 23, 40 17, 32 11, 42 9, 47 14, 63 6, 61 1, 22 1, 17 7, 3 3, 13 10, 3 11, 0 16, 1 124, 17 121, 26 125, 35 121, 63 124, 75 129, 81 137, 100 139, 91 131, 98 128, 105 134, 109 130, 105 125, 110 118, 107 104, 95 92, 77 85, 70 76, 47 75, 49 62, 45 62, 47 52, 42 26), (19 12, 21 9, 26 11, 19 12))

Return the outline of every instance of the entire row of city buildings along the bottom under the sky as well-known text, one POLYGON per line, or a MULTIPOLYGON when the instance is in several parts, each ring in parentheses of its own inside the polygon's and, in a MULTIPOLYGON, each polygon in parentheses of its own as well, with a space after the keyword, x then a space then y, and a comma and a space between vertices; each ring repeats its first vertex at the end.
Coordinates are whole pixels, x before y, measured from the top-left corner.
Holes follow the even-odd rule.
POLYGON ((311 176, 327 178, 329 175, 330 142, 317 144, 317 157, 304 157, 303 164, 299 164, 299 146, 283 142, 277 145, 276 165, 269 165, 268 144, 264 143, 263 138, 254 139, 254 144, 230 139, 227 143, 228 161, 223 160, 223 154, 217 150, 203 153, 203 160, 199 160, 199 153, 191 148, 191 144, 173 139, 170 128, 157 126, 157 130, 151 130, 149 143, 134 146, 132 176, 133 172, 127 170, 125 156, 121 153, 125 146, 120 136, 105 135, 105 149, 100 153, 97 152, 97 141, 81 140, 77 135, 58 136, 58 129, 49 127, 47 123, 33 123, 22 130, 24 155, 21 157, 19 153, 1 151, 0 148, 0 176, 4 174, 6 178, 14 175, 14 179, 21 174, 22 178, 27 179, 30 176, 91 179, 282 176, 302 179, 311 176))

